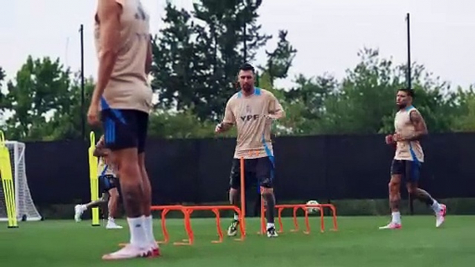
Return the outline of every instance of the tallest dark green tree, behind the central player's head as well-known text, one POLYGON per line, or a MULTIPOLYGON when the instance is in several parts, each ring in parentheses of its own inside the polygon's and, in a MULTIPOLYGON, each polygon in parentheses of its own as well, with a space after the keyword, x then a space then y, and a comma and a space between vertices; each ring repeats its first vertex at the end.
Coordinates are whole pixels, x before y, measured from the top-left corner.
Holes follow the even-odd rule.
POLYGON ((200 120, 222 116, 244 62, 244 36, 249 61, 270 38, 260 35, 256 22, 261 3, 201 0, 188 12, 168 1, 166 26, 154 48, 153 87, 159 93, 159 107, 191 109, 200 120))

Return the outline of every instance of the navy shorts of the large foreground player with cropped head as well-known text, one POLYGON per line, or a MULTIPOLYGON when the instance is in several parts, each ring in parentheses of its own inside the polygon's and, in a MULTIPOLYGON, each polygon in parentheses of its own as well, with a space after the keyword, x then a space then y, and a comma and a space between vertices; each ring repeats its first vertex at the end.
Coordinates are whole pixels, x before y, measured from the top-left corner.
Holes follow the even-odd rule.
POLYGON ((104 109, 101 112, 105 147, 119 150, 134 148, 145 151, 148 113, 133 109, 104 109))

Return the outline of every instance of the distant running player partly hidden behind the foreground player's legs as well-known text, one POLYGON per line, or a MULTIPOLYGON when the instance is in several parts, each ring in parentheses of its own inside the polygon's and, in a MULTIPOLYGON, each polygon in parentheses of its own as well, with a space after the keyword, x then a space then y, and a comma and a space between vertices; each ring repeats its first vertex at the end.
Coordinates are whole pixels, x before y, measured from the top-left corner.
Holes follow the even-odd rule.
POLYGON ((74 219, 75 221, 80 221, 82 213, 84 213, 89 208, 95 208, 104 203, 108 203, 107 208, 109 210, 109 216, 107 218, 106 229, 122 229, 123 227, 116 224, 115 217, 117 215, 117 206, 118 206, 118 197, 119 193, 117 190, 118 178, 114 173, 114 167, 109 160, 109 151, 104 148, 104 136, 101 136, 98 143, 96 144, 96 149, 94 149, 94 156, 99 158, 98 164, 98 178, 100 185, 100 192, 102 192, 102 197, 97 201, 91 201, 83 205, 75 205, 74 207, 74 219))

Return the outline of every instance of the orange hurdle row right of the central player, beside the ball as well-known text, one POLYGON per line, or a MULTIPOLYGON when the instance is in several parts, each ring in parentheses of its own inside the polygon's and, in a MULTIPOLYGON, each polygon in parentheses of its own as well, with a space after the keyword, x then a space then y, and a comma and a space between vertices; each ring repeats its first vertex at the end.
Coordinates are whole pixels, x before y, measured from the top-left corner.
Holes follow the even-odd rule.
MULTIPOLYGON (((337 231, 338 230, 338 224, 337 224, 337 208, 334 207, 332 204, 283 204, 283 205, 276 205, 276 208, 278 209, 278 222, 279 222, 279 231, 278 232, 284 232, 283 228, 283 223, 282 223, 282 211, 285 208, 292 208, 293 209, 293 219, 294 219, 294 226, 295 228, 290 230, 291 232, 297 232, 298 231, 298 221, 297 221, 297 210, 302 209, 305 212, 305 226, 307 228, 306 231, 304 231, 305 234, 310 234, 310 223, 308 219, 308 210, 307 208, 319 208, 320 211, 320 230, 321 232, 325 232, 325 220, 324 220, 324 214, 323 214, 323 208, 330 208, 332 210, 332 219, 333 219, 333 228, 331 229, 332 231, 337 231)), ((261 221, 264 219, 264 214, 265 214, 265 208, 261 209, 261 221)), ((265 231, 265 225, 261 223, 261 232, 265 231)))

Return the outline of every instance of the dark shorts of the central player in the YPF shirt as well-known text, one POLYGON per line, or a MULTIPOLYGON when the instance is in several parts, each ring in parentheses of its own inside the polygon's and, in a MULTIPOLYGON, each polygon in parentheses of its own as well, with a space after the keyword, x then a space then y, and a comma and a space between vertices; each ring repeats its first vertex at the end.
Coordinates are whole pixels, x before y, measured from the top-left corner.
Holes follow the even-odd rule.
MULTIPOLYGON (((239 189, 241 185, 240 159, 233 159, 229 185, 239 189)), ((267 156, 264 158, 244 159, 244 187, 247 190, 253 185, 272 188, 274 181, 274 162, 267 156)))

